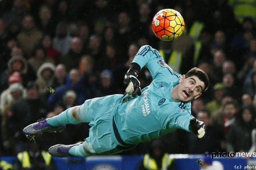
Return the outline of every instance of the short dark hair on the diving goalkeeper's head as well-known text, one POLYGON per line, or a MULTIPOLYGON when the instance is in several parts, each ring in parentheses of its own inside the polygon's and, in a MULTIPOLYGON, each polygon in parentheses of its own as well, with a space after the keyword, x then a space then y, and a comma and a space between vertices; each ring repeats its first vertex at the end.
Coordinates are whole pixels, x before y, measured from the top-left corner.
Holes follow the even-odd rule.
POLYGON ((203 91, 207 90, 207 88, 209 87, 209 78, 208 78, 208 75, 201 69, 197 68, 197 67, 194 67, 194 68, 191 68, 185 78, 188 78, 188 77, 192 77, 193 75, 195 75, 196 77, 199 78, 199 80, 201 80, 202 82, 204 82, 204 89, 203 91))

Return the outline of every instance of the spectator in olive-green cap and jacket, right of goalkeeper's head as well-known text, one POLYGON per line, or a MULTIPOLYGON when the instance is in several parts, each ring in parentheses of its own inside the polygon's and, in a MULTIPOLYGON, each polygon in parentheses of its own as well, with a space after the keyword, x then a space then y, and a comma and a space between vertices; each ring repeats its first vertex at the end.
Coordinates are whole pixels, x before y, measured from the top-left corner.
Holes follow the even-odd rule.
POLYGON ((224 85, 222 83, 217 83, 213 86, 214 98, 212 101, 206 103, 205 108, 213 113, 221 107, 221 100, 224 91, 224 85))

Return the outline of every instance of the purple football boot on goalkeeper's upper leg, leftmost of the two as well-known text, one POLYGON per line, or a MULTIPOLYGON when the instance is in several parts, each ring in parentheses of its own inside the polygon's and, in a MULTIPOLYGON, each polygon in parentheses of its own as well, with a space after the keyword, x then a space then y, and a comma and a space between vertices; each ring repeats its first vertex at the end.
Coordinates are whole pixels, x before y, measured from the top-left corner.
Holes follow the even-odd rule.
POLYGON ((39 119, 36 123, 28 125, 26 128, 23 129, 23 133, 27 137, 39 135, 44 132, 61 132, 65 129, 66 125, 60 125, 60 126, 51 126, 47 123, 48 119, 39 119))

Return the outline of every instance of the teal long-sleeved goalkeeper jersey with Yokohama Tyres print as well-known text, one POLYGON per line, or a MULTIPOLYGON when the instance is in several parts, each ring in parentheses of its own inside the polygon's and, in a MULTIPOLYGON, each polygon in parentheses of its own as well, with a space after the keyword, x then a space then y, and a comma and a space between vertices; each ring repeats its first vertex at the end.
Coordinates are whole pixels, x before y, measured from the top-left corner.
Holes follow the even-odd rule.
MULTIPOLYGON (((123 97, 117 105, 114 119, 121 138, 127 144, 148 141, 176 129, 189 131, 191 103, 177 102, 171 97, 171 90, 181 74, 174 72, 156 49, 142 46, 132 63, 147 66, 153 82, 142 89, 142 95, 135 98, 123 97)), ((190 132, 190 131, 189 131, 190 132)))

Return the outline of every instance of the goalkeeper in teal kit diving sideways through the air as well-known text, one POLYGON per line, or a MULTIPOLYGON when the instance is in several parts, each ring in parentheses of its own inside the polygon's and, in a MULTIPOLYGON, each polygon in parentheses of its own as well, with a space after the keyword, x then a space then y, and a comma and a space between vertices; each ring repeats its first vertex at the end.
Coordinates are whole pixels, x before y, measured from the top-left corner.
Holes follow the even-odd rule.
POLYGON ((204 136, 204 123, 191 116, 190 111, 190 100, 209 86, 202 70, 192 68, 186 75, 176 73, 156 49, 147 45, 134 57, 124 84, 125 95, 86 100, 58 116, 28 125, 23 133, 33 137, 46 131, 61 132, 65 124, 89 122, 89 137, 84 142, 49 148, 49 153, 57 157, 112 155, 176 129, 193 132, 198 138, 204 136), (144 65, 154 80, 141 90, 137 78, 144 65))

